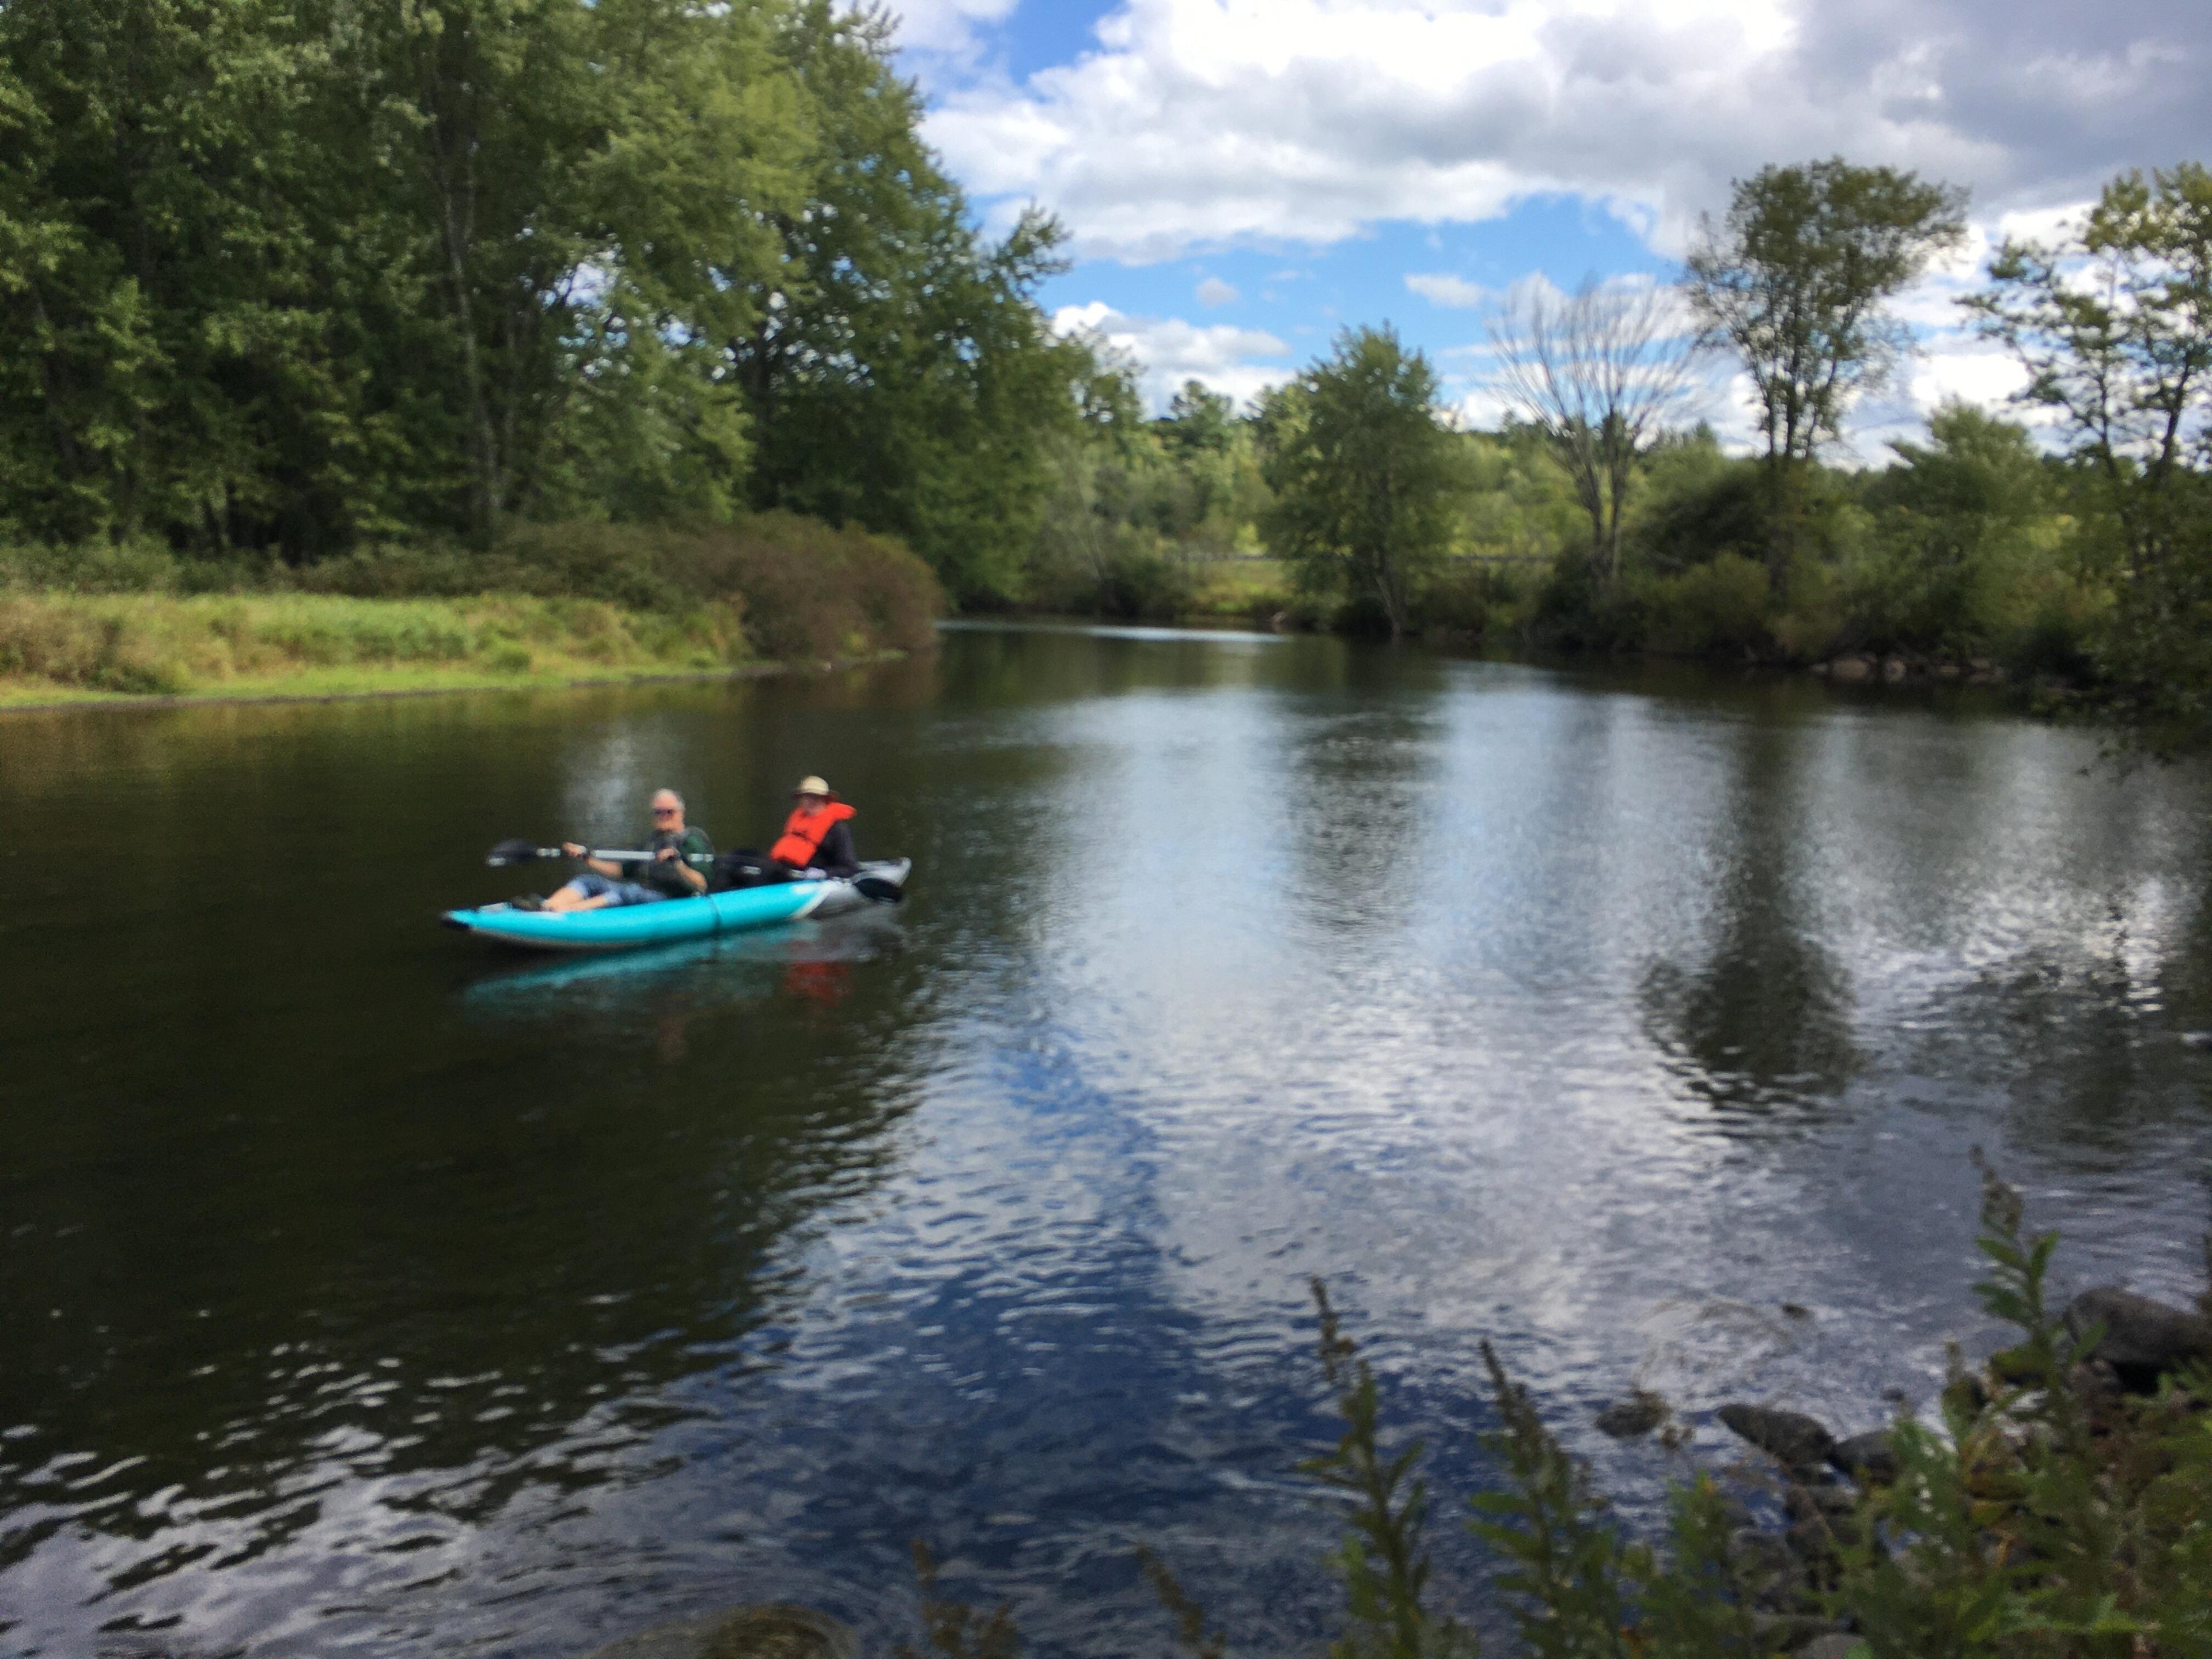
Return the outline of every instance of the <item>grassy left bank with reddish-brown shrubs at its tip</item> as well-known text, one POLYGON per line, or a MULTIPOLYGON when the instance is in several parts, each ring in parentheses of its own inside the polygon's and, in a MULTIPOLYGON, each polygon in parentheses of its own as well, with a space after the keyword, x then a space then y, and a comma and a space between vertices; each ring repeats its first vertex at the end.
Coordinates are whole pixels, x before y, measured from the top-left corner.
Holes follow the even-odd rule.
POLYGON ((940 608, 896 542, 785 515, 531 526, 491 553, 305 568, 20 549, 0 553, 0 706, 732 672, 920 650, 940 608))

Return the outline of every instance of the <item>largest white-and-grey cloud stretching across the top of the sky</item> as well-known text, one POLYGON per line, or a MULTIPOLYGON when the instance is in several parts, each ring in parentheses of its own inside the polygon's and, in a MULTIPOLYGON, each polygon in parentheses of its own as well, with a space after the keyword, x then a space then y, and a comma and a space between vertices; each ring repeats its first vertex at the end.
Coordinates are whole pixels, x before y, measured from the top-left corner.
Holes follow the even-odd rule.
POLYGON ((2203 0, 1126 0, 1097 40, 951 88, 929 131, 980 197, 1040 199, 1079 254, 1126 261, 1551 192, 1674 250, 1776 159, 1891 161, 2022 210, 2212 150, 2203 0))

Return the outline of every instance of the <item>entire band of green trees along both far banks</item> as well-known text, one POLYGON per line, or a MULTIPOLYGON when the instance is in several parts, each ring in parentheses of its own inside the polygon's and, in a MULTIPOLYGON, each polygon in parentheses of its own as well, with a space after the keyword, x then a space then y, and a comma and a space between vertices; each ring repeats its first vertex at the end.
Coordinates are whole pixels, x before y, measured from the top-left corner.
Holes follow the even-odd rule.
MULTIPOLYGON (((1522 294, 1498 429, 1371 327, 1254 407, 1192 383, 1148 418, 1139 365, 1040 307, 1062 228, 989 234, 922 115, 894 18, 830 0, 9 0, 0 675, 190 679, 40 595, 644 582, 686 613, 796 538, 900 644, 938 604, 1256 617, 2205 726, 2201 166, 2000 250, 1971 305, 2026 396, 1867 456, 1951 186, 1770 166, 1679 283, 1522 294), (1730 376, 1747 453, 1699 418, 1730 376)), ((776 626, 889 641, 845 624, 776 626)))

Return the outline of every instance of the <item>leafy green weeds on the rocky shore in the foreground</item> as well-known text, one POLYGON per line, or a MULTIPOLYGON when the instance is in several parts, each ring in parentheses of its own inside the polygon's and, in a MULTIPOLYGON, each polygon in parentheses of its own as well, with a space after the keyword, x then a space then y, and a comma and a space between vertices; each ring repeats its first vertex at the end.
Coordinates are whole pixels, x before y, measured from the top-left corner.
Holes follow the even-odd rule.
MULTIPOLYGON (((2020 1194, 1986 1168, 1980 1250, 1975 1292, 2020 1340, 1982 1371, 1953 1356, 1936 1418, 1889 1429, 1893 1478, 1794 1506, 1809 1517, 1787 1546, 1747 1531, 1710 1473, 1670 1489, 1659 1540, 1630 1537, 1484 1345, 1502 1480, 1471 1500, 1471 1526, 1500 1562, 1511 1630, 1480 1637, 1431 1606, 1420 1442, 1391 1444, 1374 1374, 1314 1281, 1343 1436, 1305 1469, 1349 1500, 1329 1557, 1345 1595, 1332 1657, 1473 1659, 1489 1641, 1540 1659, 1776 1659, 1827 1630, 1854 1659, 2205 1659, 2212 1369, 2121 1394, 2090 1363, 2104 1332, 2051 1310, 2057 1234, 2024 1237, 2020 1194)), ((1166 1564, 1146 1557, 1146 1575, 1186 1650, 1230 1652, 1166 1564)), ((978 1626, 931 1601, 927 1617, 933 1632, 991 1635, 991 1648, 938 1641, 947 1659, 1015 1650, 1004 1610, 978 1626)))

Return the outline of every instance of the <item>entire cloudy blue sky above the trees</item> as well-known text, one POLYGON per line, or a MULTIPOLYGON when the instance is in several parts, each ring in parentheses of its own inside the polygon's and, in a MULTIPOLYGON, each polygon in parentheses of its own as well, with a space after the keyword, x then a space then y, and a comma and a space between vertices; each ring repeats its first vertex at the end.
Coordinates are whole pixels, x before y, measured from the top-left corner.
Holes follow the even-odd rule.
MULTIPOLYGON (((929 139, 991 226, 1042 204, 1062 327, 1135 352, 1155 407, 1237 398, 1391 323, 1493 422, 1513 283, 1670 276, 1730 181, 1843 155, 1973 190, 1902 301, 1920 356, 1863 409, 1880 460, 2017 372, 1955 299, 2126 168, 2212 159, 2212 0, 894 0, 929 139)), ((1705 414, 1745 431, 1745 387, 1705 414)))

